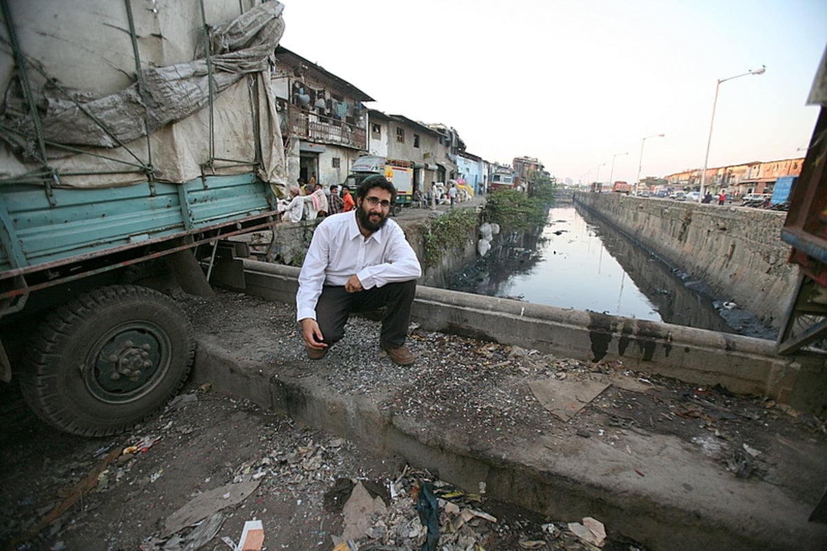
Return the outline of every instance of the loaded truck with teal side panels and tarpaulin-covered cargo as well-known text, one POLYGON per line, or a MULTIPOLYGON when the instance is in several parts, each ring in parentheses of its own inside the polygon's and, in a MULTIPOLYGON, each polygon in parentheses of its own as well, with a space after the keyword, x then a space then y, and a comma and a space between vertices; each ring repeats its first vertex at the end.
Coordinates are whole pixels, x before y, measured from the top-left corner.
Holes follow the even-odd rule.
POLYGON ((193 365, 170 295, 210 295, 222 239, 277 219, 283 6, 0 7, 0 380, 57 429, 121 433, 193 365))

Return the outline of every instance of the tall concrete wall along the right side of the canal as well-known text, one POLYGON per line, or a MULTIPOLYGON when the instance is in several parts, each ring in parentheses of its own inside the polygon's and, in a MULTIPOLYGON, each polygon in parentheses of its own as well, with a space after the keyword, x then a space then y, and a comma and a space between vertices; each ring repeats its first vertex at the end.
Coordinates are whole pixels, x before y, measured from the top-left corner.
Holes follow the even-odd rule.
POLYGON ((715 295, 781 327, 798 277, 781 240, 786 213, 623 194, 578 193, 575 202, 715 295))

